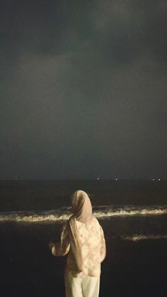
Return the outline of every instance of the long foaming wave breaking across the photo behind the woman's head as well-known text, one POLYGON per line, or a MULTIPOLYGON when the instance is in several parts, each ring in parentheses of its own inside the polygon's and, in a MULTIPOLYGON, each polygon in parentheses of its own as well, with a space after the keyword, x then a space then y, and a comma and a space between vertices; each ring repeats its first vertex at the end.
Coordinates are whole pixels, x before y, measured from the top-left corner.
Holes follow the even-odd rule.
MULTIPOLYGON (((112 217, 166 215, 167 206, 96 206, 93 214, 100 220, 112 217)), ((1 222, 61 222, 68 220, 71 208, 63 207, 53 211, 14 211, 0 213, 1 222)))

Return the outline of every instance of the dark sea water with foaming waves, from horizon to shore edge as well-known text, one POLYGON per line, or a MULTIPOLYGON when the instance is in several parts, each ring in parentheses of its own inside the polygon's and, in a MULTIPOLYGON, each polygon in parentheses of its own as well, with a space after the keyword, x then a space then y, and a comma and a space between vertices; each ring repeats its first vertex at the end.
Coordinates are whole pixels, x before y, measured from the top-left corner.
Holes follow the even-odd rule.
POLYGON ((166 181, 1 181, 0 223, 64 223, 71 215, 70 195, 80 188, 91 197, 93 215, 110 220, 113 236, 167 237, 166 181))

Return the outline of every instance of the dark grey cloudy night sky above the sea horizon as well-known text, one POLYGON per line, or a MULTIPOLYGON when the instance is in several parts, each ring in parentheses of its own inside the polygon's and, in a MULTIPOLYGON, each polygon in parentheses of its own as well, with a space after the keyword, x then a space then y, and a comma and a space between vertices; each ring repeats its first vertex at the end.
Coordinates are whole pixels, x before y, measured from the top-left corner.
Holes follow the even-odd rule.
POLYGON ((167 179, 166 0, 0 0, 0 179, 167 179))

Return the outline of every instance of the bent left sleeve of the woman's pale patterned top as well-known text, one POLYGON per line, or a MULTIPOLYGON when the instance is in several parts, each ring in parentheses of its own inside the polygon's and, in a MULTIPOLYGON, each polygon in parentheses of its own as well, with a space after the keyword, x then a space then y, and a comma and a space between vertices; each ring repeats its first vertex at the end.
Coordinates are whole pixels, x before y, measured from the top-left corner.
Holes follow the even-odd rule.
POLYGON ((57 242, 52 247, 52 254, 54 256, 65 256, 68 254, 70 248, 70 241, 69 241, 69 232, 67 228, 67 223, 64 225, 61 233, 61 240, 57 242))

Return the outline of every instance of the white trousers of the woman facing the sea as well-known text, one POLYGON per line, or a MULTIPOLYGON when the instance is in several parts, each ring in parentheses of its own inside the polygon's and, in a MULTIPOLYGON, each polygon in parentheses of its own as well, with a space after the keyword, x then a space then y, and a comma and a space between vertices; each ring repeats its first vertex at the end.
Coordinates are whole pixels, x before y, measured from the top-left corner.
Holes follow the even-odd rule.
POLYGON ((66 297, 98 297, 100 276, 73 277, 65 274, 66 297))

